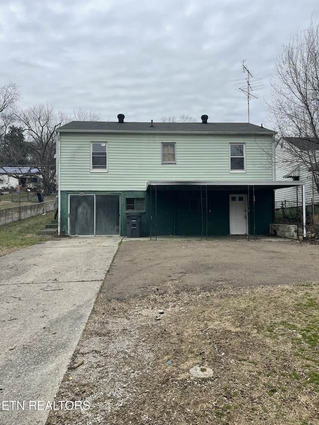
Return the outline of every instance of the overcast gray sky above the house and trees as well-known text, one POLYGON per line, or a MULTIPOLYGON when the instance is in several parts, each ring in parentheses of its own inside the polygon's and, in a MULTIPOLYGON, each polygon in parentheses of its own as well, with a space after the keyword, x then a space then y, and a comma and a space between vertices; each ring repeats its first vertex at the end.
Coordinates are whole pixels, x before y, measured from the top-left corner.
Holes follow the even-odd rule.
POLYGON ((276 56, 311 18, 318 0, 0 0, 0 86, 101 121, 247 122, 246 59, 264 84, 250 122, 267 126, 276 56))

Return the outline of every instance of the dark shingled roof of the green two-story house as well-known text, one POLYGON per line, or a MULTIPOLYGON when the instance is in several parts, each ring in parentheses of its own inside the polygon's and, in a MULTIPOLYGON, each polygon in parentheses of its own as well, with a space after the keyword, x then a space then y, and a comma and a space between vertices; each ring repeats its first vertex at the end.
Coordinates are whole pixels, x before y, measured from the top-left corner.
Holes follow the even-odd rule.
POLYGON ((72 121, 57 129, 59 132, 111 132, 111 133, 254 133, 276 132, 250 123, 118 123, 100 121, 72 121))

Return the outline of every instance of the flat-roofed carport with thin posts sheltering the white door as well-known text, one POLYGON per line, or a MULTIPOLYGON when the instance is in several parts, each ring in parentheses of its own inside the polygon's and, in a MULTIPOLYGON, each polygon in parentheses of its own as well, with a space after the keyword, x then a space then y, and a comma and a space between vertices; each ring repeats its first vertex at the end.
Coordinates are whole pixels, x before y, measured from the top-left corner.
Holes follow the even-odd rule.
MULTIPOLYGON (((148 181, 150 237, 265 235, 274 223, 274 191, 302 188, 299 225, 306 237, 302 181, 148 181)), ((298 223, 297 223, 298 225, 298 223)))

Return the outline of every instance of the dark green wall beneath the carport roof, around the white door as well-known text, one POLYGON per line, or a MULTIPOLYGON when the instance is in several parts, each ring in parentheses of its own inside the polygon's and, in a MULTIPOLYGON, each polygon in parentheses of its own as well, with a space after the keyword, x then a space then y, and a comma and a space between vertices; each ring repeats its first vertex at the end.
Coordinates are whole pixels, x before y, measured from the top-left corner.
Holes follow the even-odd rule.
MULTIPOLYGON (((229 195, 247 194, 241 190, 207 190, 207 234, 208 236, 229 235, 229 195)), ((202 193, 205 198, 204 192, 202 193)), ((152 195, 152 234, 158 236, 195 236, 202 232, 201 211, 189 211, 189 198, 198 198, 200 190, 166 190, 157 193, 157 217, 155 193, 152 195), (157 224, 156 224, 157 222, 157 224)), ((249 234, 267 235, 273 223, 273 190, 249 192, 249 234), (255 213, 254 213, 255 207, 255 213)), ((205 199, 203 204, 205 205, 205 199)), ((206 235, 206 216, 203 214, 203 234, 206 235)))

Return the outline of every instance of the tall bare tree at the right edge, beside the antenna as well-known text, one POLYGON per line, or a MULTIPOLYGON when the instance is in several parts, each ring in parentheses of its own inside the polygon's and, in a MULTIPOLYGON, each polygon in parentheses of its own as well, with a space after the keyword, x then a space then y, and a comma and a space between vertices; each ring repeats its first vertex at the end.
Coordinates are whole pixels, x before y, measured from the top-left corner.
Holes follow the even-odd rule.
POLYGON ((280 161, 302 164, 319 192, 319 25, 301 30, 277 57, 268 105, 281 138, 280 161))

